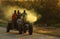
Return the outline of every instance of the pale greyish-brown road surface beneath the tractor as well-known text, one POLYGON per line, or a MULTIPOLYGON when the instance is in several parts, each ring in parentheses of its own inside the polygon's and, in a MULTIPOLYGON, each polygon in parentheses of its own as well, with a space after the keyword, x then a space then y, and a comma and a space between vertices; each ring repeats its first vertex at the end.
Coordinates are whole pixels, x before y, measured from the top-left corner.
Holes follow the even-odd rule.
POLYGON ((48 36, 37 33, 33 33, 33 35, 20 35, 18 34, 18 31, 11 31, 9 33, 6 33, 6 28, 0 27, 0 39, 60 39, 60 37, 48 36))

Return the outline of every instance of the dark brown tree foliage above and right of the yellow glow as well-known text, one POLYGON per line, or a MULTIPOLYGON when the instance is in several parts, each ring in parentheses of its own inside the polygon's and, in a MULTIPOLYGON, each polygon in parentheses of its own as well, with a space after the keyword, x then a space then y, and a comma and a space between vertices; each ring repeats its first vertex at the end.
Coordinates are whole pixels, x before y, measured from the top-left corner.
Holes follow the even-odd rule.
POLYGON ((41 24, 60 23, 60 7, 57 5, 58 0, 39 0, 39 1, 5 1, 3 5, 19 6, 26 9, 34 9, 42 18, 37 20, 41 24))

